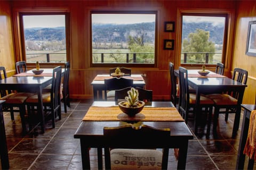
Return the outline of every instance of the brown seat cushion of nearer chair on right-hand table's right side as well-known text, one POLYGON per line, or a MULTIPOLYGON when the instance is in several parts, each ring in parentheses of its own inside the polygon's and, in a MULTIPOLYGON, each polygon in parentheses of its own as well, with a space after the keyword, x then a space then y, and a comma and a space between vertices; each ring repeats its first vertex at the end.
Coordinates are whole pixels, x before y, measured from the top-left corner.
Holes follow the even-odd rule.
POLYGON ((210 94, 206 97, 211 98, 217 105, 236 105, 237 99, 227 94, 210 94))

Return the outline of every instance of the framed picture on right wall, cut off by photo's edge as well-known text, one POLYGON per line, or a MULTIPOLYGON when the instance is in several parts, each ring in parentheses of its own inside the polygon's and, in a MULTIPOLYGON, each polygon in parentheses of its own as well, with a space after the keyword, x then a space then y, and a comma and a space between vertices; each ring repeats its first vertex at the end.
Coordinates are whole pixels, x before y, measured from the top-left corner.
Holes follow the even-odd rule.
POLYGON ((256 56, 256 21, 249 22, 245 54, 256 56))

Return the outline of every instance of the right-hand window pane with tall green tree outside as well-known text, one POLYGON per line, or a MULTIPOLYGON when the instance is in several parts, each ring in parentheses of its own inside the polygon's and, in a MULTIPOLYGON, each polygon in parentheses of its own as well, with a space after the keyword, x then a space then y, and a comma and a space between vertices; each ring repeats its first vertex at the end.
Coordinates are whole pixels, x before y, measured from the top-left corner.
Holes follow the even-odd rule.
POLYGON ((181 65, 214 65, 225 57, 227 14, 182 13, 181 65))

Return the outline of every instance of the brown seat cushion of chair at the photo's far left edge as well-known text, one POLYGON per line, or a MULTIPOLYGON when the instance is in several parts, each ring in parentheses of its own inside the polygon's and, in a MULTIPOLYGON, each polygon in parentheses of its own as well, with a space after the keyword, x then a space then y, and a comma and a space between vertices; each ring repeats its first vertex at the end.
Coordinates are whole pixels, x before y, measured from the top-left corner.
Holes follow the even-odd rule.
POLYGON ((1 98, 1 100, 5 100, 4 104, 23 104, 25 100, 34 94, 29 92, 18 92, 6 95, 1 98))

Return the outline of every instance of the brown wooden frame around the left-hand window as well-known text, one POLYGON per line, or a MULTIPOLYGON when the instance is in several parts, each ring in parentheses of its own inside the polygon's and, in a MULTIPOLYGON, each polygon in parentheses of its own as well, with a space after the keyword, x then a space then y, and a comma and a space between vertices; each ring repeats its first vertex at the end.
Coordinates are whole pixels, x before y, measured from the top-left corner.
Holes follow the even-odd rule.
MULTIPOLYGON (((26 40, 25 40, 25 30, 23 27, 23 17, 25 15, 65 15, 65 29, 66 29, 66 62, 69 61, 70 58, 70 46, 69 46, 69 13, 68 12, 51 12, 51 11, 46 11, 46 12, 19 12, 19 25, 20 25, 20 37, 21 37, 21 60, 26 61, 27 66, 35 66, 34 63, 27 63, 27 58, 26 58, 26 40)), ((41 63, 41 66, 64 66, 66 62, 49 62, 49 63, 41 63)))

